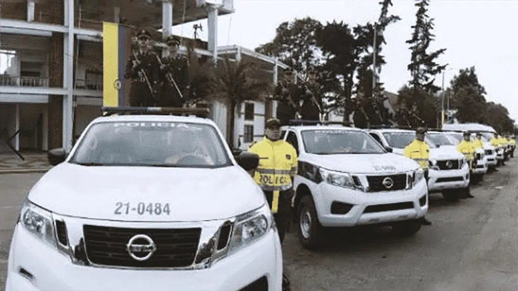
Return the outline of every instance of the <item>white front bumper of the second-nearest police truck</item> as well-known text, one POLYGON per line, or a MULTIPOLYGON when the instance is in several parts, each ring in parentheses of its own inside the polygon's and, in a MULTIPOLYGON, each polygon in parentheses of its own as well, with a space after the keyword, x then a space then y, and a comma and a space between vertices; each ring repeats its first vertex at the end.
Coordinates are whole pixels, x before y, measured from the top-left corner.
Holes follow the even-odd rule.
POLYGON ((424 178, 410 190, 365 193, 320 183, 311 193, 320 224, 326 227, 419 219, 428 211, 428 190, 424 178), (352 208, 346 214, 332 214, 333 202, 347 203, 352 208))

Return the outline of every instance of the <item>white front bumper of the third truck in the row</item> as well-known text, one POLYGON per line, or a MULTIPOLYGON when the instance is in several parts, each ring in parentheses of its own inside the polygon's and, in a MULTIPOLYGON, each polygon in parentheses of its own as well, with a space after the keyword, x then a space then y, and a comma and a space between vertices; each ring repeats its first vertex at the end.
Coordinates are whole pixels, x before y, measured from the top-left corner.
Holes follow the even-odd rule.
POLYGON ((442 192, 448 189, 466 188, 469 186, 469 167, 465 164, 458 170, 429 170, 428 191, 442 192))

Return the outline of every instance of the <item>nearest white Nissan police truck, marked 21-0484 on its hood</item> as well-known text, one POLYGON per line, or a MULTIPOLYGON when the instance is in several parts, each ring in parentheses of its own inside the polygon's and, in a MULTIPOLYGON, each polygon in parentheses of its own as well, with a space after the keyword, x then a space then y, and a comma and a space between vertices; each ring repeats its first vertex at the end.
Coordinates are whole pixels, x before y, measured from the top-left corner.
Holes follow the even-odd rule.
POLYGON ((49 151, 55 167, 21 207, 6 290, 280 291, 278 232, 246 171, 259 157, 236 161, 206 118, 104 109, 130 115, 95 119, 69 154, 49 151))

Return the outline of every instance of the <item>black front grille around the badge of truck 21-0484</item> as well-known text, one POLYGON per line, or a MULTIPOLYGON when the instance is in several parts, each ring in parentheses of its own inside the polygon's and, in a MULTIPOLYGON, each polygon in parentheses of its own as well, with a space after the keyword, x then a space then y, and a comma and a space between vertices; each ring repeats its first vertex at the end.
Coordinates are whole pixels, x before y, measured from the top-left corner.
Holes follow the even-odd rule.
MULTIPOLYGON (((119 228, 84 225, 84 241, 88 259, 97 265, 178 268, 194 262, 201 228, 119 228), (156 244, 153 255, 143 261, 132 258, 126 244, 136 235, 146 235, 156 244)), ((147 244, 142 239, 135 244, 147 244)))

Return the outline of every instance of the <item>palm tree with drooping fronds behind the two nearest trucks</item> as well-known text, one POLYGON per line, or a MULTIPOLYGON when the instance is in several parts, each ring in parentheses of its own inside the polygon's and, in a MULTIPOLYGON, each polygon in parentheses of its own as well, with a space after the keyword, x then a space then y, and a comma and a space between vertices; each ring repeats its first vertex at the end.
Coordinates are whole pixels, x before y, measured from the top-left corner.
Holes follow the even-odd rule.
POLYGON ((264 101, 271 93, 272 83, 260 77, 253 63, 224 59, 215 69, 212 94, 209 99, 219 100, 227 106, 227 142, 235 148, 235 113, 243 101, 264 101))

